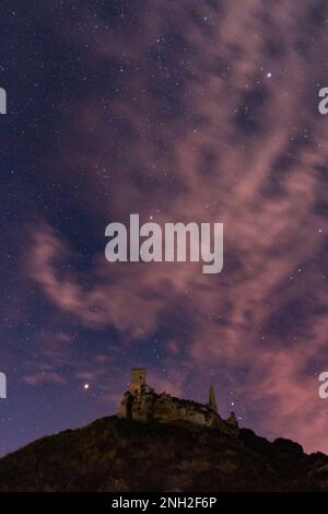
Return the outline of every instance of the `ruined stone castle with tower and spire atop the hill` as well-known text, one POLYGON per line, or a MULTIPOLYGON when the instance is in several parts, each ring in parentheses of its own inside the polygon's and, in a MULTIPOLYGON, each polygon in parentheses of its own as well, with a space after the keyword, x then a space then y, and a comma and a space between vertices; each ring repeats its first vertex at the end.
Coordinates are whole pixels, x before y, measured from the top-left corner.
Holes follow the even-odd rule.
POLYGON ((219 414, 213 386, 210 387, 208 404, 175 398, 166 393, 157 394, 147 385, 145 367, 131 370, 130 386, 124 394, 118 416, 143 422, 189 421, 232 435, 237 435, 239 430, 234 412, 227 420, 219 414))

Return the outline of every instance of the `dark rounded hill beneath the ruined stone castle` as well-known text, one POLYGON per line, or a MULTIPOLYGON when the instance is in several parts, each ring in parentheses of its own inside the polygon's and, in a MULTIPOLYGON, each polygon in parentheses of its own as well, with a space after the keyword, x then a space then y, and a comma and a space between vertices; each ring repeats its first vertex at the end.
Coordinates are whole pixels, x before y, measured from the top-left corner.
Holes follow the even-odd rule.
POLYGON ((328 457, 242 429, 104 418, 0 459, 0 491, 328 490, 328 457))

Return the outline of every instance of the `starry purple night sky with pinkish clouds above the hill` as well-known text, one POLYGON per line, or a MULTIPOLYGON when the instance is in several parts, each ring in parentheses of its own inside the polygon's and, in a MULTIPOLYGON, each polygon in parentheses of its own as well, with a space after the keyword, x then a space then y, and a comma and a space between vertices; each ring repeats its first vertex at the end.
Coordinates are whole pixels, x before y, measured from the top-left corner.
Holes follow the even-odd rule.
POLYGON ((132 366, 328 452, 326 0, 1 1, 0 453, 113 414, 132 366), (105 227, 224 223, 224 268, 105 227))

